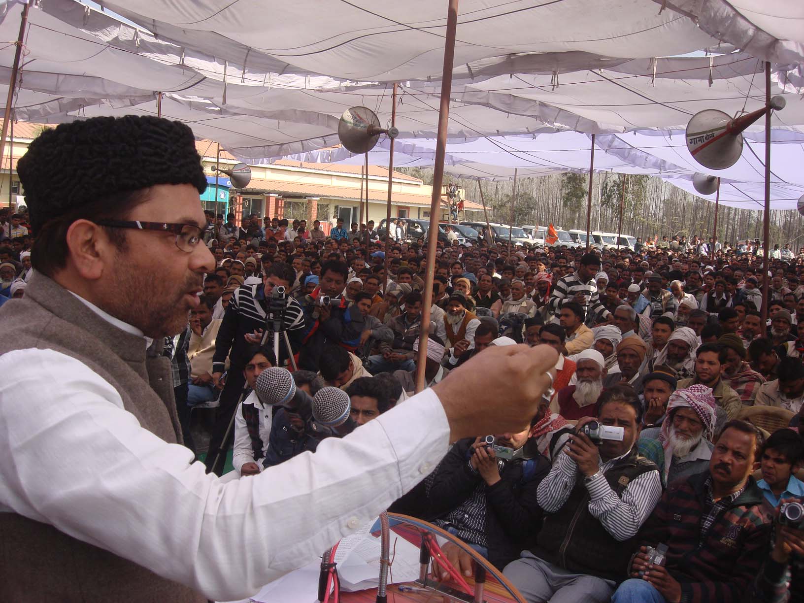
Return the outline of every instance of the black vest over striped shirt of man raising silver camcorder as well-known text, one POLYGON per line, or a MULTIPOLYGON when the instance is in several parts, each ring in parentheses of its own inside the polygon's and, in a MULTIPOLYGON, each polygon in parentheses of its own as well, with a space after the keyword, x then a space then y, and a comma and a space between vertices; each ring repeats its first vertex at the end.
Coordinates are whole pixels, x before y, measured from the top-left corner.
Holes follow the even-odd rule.
MULTIPOLYGON (((634 478, 656 471, 653 462, 637 456, 637 447, 617 461, 604 476, 617 496, 634 478)), ((617 582, 628 577, 628 561, 636 537, 619 542, 589 513, 589 490, 583 478, 576 481, 567 502, 545 516, 533 554, 568 572, 589 574, 617 582)))

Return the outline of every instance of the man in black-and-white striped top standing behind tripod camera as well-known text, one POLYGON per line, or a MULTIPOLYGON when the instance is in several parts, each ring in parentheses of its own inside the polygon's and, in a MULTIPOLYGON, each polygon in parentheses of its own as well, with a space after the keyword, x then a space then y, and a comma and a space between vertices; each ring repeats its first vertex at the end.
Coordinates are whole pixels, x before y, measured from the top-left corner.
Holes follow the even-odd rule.
MULTIPOLYGON (((222 388, 223 391, 220 392, 215 425, 212 426, 206 461, 207 471, 220 474, 224 468, 225 455, 218 455, 216 452, 219 448, 227 450, 232 445, 232 434, 230 433, 229 437, 226 437, 226 432, 229 422, 232 420, 232 413, 235 412, 237 400, 240 399, 240 393, 246 383, 243 371, 249 360, 247 358, 249 346, 261 343, 266 325, 271 328, 266 314, 269 310, 273 288, 282 286, 285 287, 285 293, 288 293, 295 278, 296 273, 291 266, 283 262, 274 262, 263 274, 262 284, 239 287, 232 294, 232 299, 229 300, 224 321, 221 323, 218 337, 215 339, 215 355, 212 356, 212 379, 215 388, 222 388), (222 384, 221 376, 224 373, 227 356, 229 357, 228 379, 225 384, 222 384), (219 457, 220 460, 215 466, 212 466, 215 457, 219 457)), ((301 306, 290 297, 287 299, 283 324, 290 339, 291 351, 295 353, 301 343, 304 317, 301 306)), ((268 338, 265 339, 265 345, 270 345, 272 342, 273 333, 269 333, 268 338)), ((284 366, 287 358, 285 343, 280 342, 279 366, 284 366)))

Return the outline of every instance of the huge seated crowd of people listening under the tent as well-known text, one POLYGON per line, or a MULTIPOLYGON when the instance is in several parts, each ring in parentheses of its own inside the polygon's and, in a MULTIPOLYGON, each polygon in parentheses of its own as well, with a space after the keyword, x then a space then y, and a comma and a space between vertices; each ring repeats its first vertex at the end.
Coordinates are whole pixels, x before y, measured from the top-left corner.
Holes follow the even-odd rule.
MULTIPOLYGON (((454 442, 393 510, 462 539, 529 602, 804 601, 804 529, 777 520, 804 503, 804 258, 767 273, 678 237, 439 241, 428 311, 426 250, 404 232, 386 247, 373 222, 234 217, 207 212, 218 267, 165 345, 185 445, 191 409, 215 409, 207 470, 230 448, 241 476, 315 452, 303 416, 256 396, 266 368, 296 367, 309 396, 342 389, 359 427, 416 391, 423 340, 425 387, 487 347, 544 344, 560 356, 530 427, 454 442)), ((2 305, 25 295, 34 233, 24 211, 0 227, 2 305)))

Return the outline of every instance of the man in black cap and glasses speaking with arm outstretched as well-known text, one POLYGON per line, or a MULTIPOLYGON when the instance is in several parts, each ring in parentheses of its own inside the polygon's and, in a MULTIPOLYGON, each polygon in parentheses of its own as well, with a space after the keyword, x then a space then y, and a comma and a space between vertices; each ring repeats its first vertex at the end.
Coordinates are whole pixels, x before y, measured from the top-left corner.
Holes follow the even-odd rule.
POLYGON ((221 483, 179 445, 160 355, 215 269, 191 130, 59 125, 18 172, 35 273, 0 310, 0 601, 247 597, 412 489, 450 441, 524 429, 548 387, 555 351, 490 349, 483 371, 473 359, 316 454, 221 483))

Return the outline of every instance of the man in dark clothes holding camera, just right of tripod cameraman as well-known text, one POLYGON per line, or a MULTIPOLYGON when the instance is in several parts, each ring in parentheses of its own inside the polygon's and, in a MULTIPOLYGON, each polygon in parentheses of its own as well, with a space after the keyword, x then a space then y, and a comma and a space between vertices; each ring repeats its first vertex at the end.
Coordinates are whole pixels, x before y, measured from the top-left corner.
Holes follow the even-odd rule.
POLYGON ((313 293, 301 300, 304 332, 299 355, 299 368, 318 372, 318 362, 327 343, 354 352, 360 345, 365 322, 360 309, 349 305, 343 297, 349 267, 339 260, 328 260, 321 266, 321 277, 313 293), (326 297, 329 303, 324 303, 326 297))

